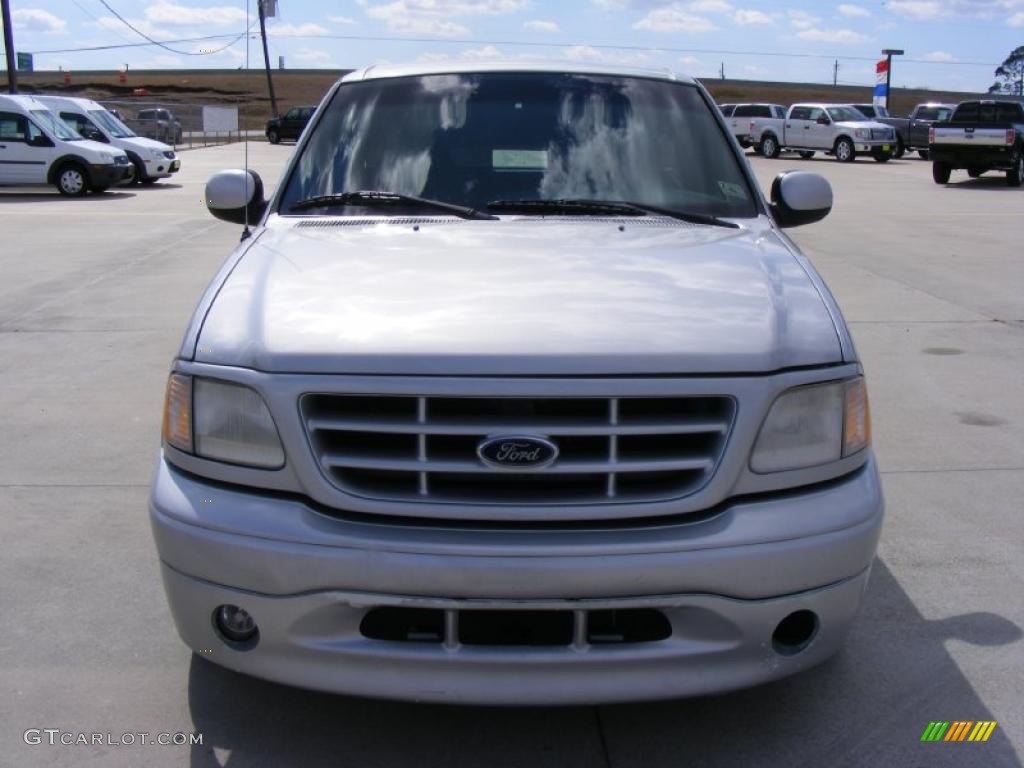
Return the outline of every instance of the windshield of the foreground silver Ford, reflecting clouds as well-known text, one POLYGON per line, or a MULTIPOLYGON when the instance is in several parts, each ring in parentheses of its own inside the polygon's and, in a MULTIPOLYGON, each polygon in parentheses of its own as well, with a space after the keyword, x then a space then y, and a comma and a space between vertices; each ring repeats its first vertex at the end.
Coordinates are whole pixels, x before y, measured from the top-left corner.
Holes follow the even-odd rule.
POLYGON ((586 199, 757 215, 739 161, 695 87, 592 75, 343 85, 303 147, 281 211, 358 190, 477 210, 495 201, 586 199))

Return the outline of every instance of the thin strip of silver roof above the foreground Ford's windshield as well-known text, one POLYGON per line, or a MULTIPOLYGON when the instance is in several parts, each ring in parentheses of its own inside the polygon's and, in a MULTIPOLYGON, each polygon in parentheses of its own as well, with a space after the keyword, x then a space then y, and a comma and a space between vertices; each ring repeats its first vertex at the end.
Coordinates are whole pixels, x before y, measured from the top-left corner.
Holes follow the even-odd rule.
POLYGON ((383 80, 384 78, 421 77, 423 75, 462 75, 489 72, 550 72, 580 75, 612 75, 618 77, 653 78, 693 84, 693 78, 678 75, 670 70, 623 67, 622 65, 569 62, 556 60, 496 59, 492 61, 421 61, 409 65, 375 65, 356 70, 342 78, 342 82, 357 80, 383 80))

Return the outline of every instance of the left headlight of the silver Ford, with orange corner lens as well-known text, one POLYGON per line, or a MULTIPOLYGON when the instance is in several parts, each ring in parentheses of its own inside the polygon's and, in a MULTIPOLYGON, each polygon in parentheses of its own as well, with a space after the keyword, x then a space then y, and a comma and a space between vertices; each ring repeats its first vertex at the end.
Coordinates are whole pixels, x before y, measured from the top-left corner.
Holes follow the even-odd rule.
POLYGON ((254 389, 171 374, 164 440, 204 459, 276 469, 285 450, 263 398, 254 389))

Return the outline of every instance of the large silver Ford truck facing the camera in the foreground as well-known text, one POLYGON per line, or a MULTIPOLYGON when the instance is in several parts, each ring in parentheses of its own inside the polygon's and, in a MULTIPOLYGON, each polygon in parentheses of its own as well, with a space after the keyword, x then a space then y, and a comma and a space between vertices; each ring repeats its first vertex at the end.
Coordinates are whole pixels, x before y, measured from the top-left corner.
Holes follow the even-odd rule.
POLYGON ((685 77, 522 61, 338 82, 167 387, 150 513, 203 658, 371 696, 724 691, 835 653, 882 525, 863 371, 685 77))

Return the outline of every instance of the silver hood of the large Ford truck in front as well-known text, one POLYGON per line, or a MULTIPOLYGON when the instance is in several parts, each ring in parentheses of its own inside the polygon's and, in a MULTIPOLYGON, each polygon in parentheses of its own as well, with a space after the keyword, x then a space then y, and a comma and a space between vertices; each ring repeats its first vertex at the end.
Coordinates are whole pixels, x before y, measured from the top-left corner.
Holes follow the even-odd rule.
POLYGON ((484 376, 842 359, 821 296, 763 220, 758 230, 656 217, 390 221, 271 217, 217 294, 196 359, 484 376))

